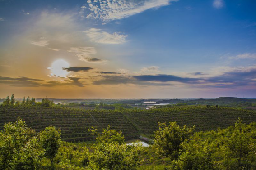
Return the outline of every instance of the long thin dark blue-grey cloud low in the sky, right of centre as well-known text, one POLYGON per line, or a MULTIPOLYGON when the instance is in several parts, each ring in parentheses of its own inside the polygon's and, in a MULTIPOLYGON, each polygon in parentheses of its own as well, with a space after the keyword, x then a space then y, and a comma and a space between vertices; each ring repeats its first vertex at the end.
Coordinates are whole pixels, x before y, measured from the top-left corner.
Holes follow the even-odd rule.
POLYGON ((184 78, 184 77, 177 77, 177 76, 166 75, 166 74, 140 75, 140 76, 133 76, 133 77, 139 81, 158 81, 158 82, 177 81, 182 83, 191 83, 191 82, 201 80, 198 78, 188 78, 188 77, 184 78))

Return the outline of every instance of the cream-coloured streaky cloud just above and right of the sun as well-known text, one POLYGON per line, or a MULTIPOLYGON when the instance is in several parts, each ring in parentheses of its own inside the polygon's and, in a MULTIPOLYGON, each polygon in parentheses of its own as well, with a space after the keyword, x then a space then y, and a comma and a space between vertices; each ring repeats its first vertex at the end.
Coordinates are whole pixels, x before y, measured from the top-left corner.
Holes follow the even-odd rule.
POLYGON ((102 62, 103 60, 98 58, 92 58, 92 55, 97 53, 94 47, 71 47, 68 52, 75 53, 80 61, 85 62, 102 62))

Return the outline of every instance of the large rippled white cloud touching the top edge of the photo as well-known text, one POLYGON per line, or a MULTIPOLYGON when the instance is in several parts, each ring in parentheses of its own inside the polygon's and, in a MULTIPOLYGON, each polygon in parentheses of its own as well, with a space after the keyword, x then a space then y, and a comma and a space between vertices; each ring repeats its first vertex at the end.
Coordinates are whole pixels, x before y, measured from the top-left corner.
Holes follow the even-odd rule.
POLYGON ((88 0, 85 6, 91 12, 86 18, 108 22, 127 18, 148 9, 158 9, 176 1, 178 0, 88 0))

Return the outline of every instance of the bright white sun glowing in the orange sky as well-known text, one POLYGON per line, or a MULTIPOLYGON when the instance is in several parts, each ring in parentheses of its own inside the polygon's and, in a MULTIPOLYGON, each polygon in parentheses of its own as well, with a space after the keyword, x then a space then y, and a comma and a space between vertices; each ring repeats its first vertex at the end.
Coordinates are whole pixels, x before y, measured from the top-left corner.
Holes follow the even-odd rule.
POLYGON ((51 76, 65 77, 70 72, 63 70, 63 68, 70 67, 70 64, 65 60, 56 60, 51 64, 51 76))

